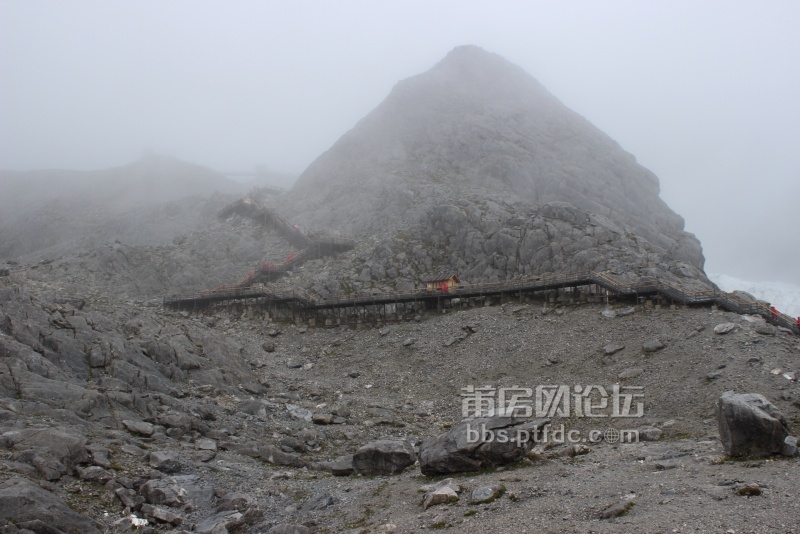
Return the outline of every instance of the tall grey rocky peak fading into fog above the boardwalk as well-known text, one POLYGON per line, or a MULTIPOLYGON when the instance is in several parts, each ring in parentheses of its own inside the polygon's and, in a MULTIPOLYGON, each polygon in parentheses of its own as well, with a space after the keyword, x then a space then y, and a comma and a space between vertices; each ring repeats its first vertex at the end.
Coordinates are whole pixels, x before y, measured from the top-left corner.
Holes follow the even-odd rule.
POLYGON ((688 266, 704 278, 700 243, 659 198, 658 178, 521 68, 475 46, 455 48, 400 81, 309 166, 282 208, 306 225, 348 234, 389 238, 414 230, 460 257, 455 264, 442 257, 446 267, 477 278, 602 270, 609 255, 599 249, 612 242, 636 250, 636 258, 620 260, 628 266, 681 262, 684 275, 688 266), (560 226, 553 218, 572 228, 554 233, 550 227, 560 226), (494 258, 459 247, 475 248, 474 240, 509 227, 519 230, 508 234, 515 247, 489 247, 506 260, 475 270, 494 258), (466 241, 454 239, 471 230, 466 241), (546 239, 532 238, 536 230, 546 239), (565 252, 570 240, 581 243, 574 253, 594 247, 602 257, 576 260, 565 252), (521 253, 542 247, 549 256, 521 253))

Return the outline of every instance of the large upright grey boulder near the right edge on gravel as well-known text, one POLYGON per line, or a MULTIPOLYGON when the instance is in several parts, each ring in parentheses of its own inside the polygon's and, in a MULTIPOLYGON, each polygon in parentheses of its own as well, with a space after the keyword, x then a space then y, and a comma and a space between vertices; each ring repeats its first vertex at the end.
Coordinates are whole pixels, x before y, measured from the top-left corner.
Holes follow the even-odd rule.
POLYGON ((728 456, 783 452, 789 427, 783 414, 763 395, 726 391, 716 408, 719 437, 728 456))

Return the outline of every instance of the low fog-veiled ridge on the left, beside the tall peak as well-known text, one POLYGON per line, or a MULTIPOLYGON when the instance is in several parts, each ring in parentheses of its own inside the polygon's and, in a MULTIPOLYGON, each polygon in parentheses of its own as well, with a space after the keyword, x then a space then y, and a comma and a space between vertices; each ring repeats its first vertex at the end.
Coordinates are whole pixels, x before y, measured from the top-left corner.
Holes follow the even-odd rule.
POLYGON ((246 187, 171 158, 90 172, 0 172, 0 259, 56 257, 114 240, 161 244, 213 220, 246 187))

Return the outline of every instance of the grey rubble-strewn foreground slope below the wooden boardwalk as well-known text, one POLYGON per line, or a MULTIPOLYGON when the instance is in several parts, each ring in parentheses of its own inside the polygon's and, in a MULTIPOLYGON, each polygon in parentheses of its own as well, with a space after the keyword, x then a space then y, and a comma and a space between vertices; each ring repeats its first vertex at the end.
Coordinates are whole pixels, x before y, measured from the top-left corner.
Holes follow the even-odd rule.
POLYGON ((760 319, 644 307, 609 318, 602 305, 537 302, 315 329, 237 305, 190 315, 64 300, 29 274, 0 277, 0 529, 39 519, 130 532, 131 513, 193 532, 508 532, 531 517, 552 518, 548 532, 666 531, 676 517, 701 531, 749 521, 748 532, 784 532, 796 522, 800 462, 724 461, 713 421, 715 400, 736 389, 764 394, 793 431, 800 423, 798 383, 773 372, 795 372, 800 345, 760 319), (715 334, 727 321, 737 328, 715 334), (644 352, 653 338, 665 347, 644 352), (320 463, 376 439, 419 444, 446 431, 468 385, 620 383, 643 387, 642 418, 560 417, 554 428, 655 426, 658 442, 587 442, 573 458, 553 437, 536 461, 457 476, 456 503, 423 509, 418 489, 437 479, 418 467, 331 477, 320 463), (757 481, 763 496, 736 496, 734 481, 757 481), (468 504, 494 484, 507 494, 468 504), (630 514, 599 518, 629 492, 630 514), (36 498, 15 505, 20 493, 36 498))

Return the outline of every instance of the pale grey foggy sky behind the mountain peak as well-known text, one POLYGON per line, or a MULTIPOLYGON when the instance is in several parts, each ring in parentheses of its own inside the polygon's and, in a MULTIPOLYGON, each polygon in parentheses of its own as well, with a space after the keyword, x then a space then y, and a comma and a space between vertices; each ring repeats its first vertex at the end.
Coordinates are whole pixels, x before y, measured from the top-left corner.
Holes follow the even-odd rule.
MULTIPOLYGON (((800 2, 0 2, 0 168, 300 173, 475 44, 661 180, 708 272, 798 282, 800 2)), ((2 192, 0 192, 2 194, 2 192)))

